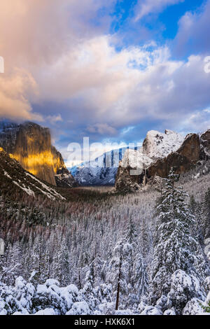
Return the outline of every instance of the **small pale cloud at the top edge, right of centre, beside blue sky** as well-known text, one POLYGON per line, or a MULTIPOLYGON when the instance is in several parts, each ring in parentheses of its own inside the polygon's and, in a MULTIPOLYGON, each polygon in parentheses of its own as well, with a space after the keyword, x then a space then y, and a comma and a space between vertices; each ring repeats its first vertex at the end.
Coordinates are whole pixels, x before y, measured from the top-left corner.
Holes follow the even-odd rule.
POLYGON ((172 6, 184 0, 139 0, 136 7, 135 21, 141 20, 151 13, 160 13, 167 6, 172 6))

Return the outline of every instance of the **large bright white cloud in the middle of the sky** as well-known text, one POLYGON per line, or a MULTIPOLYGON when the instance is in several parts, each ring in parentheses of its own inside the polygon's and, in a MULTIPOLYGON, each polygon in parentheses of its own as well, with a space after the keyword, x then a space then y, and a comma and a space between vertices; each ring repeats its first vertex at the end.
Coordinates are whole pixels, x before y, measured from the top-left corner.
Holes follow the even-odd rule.
POLYGON ((149 49, 118 52, 110 36, 85 41, 50 68, 53 79, 43 74, 43 97, 70 99, 78 124, 88 120, 89 132, 110 135, 146 118, 185 120, 188 113, 209 105, 210 79, 202 56, 174 61, 167 47, 149 49), (74 109, 76 99, 80 102, 74 109))

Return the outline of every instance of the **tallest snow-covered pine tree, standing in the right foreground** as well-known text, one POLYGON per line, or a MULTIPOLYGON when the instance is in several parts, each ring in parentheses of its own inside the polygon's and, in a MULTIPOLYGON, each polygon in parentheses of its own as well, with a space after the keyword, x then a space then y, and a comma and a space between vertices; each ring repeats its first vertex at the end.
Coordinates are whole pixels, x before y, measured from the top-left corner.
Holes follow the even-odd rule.
POLYGON ((204 298, 201 287, 207 276, 207 264, 200 244, 190 233, 195 219, 186 203, 188 195, 175 186, 178 179, 172 169, 158 206, 150 300, 156 304, 160 297, 167 296, 165 308, 174 307, 179 314, 188 300, 204 298))

